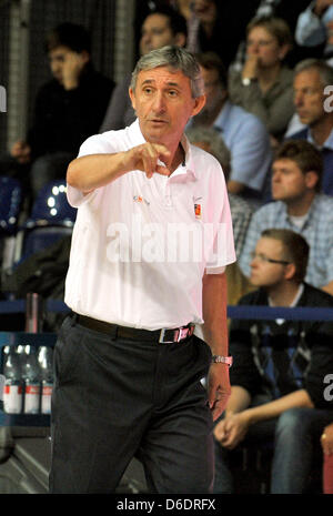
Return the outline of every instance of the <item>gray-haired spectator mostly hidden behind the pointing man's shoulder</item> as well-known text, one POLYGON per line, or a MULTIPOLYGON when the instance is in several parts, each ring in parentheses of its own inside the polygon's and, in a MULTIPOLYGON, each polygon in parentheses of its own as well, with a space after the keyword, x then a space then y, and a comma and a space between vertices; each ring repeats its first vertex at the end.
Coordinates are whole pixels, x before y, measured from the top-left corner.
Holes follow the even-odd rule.
MULTIPOLYGON (((220 134, 212 128, 193 128, 186 131, 186 136, 193 145, 200 146, 212 154, 220 163, 225 181, 231 171, 231 155, 220 134)), ((241 255, 253 208, 240 195, 229 193, 229 205, 232 219, 233 240, 236 256, 241 255)), ((226 293, 228 304, 234 305, 239 299, 252 290, 249 280, 242 274, 236 262, 228 265, 226 293)))

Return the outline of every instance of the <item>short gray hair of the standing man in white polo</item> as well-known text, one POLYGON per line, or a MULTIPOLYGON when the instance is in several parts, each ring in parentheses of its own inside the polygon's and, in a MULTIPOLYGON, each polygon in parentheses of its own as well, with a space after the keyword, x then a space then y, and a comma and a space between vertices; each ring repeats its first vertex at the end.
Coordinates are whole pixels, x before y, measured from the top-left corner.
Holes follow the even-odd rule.
POLYGON ((162 49, 152 50, 139 59, 132 73, 131 89, 134 91, 139 72, 143 70, 153 70, 159 67, 168 67, 172 70, 180 70, 190 79, 192 97, 196 99, 204 94, 203 80, 196 59, 188 50, 168 45, 162 49))

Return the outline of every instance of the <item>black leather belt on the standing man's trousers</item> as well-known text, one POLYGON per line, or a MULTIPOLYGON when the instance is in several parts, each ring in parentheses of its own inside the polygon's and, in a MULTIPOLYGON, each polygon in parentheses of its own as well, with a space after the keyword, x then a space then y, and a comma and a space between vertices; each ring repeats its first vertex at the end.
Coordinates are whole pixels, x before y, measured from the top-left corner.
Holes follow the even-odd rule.
POLYGON ((95 318, 87 317, 73 313, 79 324, 95 332, 105 333, 107 335, 120 338, 131 338, 133 341, 150 341, 161 344, 171 344, 183 342, 193 335, 195 325, 193 323, 172 330, 141 330, 128 326, 118 326, 117 324, 105 323, 95 318))

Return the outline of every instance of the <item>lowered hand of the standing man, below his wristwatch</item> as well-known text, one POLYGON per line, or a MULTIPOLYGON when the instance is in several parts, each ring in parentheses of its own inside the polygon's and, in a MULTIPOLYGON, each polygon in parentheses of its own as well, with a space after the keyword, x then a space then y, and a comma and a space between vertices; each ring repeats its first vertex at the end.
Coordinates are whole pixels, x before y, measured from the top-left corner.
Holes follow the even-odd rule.
POLYGON ((223 363, 211 364, 208 375, 209 404, 213 421, 221 416, 231 394, 229 366, 223 363))

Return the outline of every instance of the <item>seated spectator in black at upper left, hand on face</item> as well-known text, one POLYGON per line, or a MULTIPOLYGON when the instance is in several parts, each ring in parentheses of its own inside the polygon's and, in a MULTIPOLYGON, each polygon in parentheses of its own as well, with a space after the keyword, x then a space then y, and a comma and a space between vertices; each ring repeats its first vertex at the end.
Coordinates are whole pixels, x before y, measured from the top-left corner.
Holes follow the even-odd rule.
POLYGON ((12 169, 11 175, 28 182, 33 198, 48 181, 65 178, 81 143, 98 131, 113 89, 111 79, 93 69, 83 27, 58 26, 47 34, 46 50, 53 79, 38 92, 27 141, 16 142, 11 159, 0 165, 0 173, 12 169))

